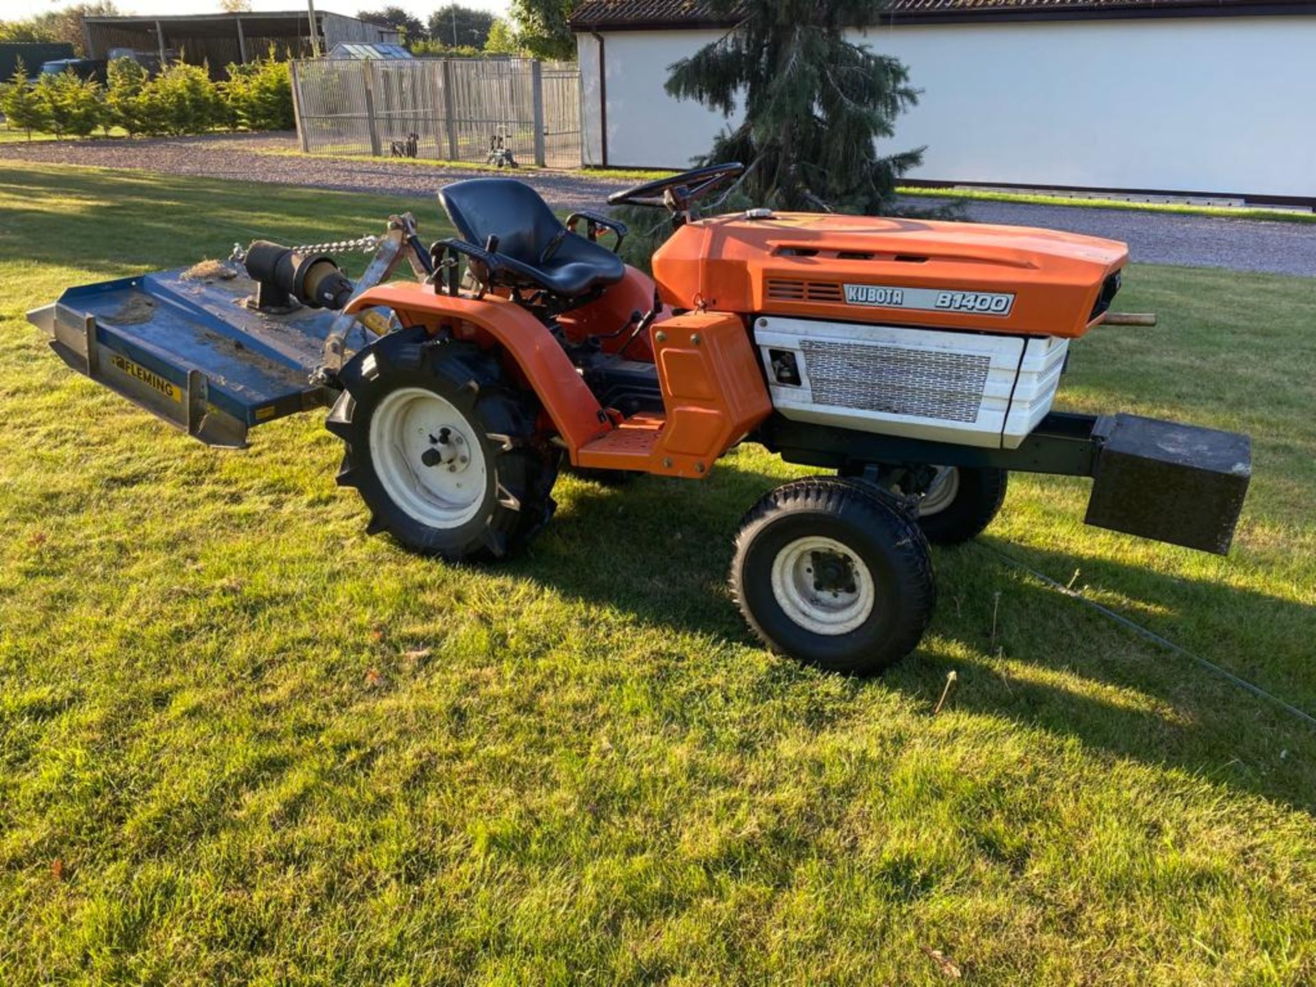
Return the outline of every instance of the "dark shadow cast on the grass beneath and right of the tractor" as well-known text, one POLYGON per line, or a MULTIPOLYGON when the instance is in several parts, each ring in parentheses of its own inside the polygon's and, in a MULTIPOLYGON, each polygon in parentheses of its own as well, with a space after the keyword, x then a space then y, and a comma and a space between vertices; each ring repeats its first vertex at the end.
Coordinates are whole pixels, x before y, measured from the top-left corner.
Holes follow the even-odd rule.
MULTIPOLYGON (((532 555, 508 571, 653 628, 757 646, 726 594, 726 571, 741 513, 779 482, 737 466, 721 467, 703 484, 637 478, 607 488, 574 480, 567 505, 532 555)), ((1040 571, 1073 571, 1080 563, 1098 574, 1092 559, 1028 555, 1040 571)), ((933 625, 919 651, 888 670, 880 686, 930 709, 954 670, 950 705, 957 711, 1313 807, 1307 725, 1044 587, 983 545, 934 549, 934 559, 941 601, 933 625)), ((1100 562, 1100 576, 1158 605, 1184 590, 1179 578, 1111 561, 1100 562)), ((1295 626, 1311 620, 1305 608, 1262 594, 1208 583, 1194 588, 1207 597, 1229 594, 1232 608, 1255 620, 1295 626)), ((1246 667, 1236 671, 1249 675, 1246 667)))

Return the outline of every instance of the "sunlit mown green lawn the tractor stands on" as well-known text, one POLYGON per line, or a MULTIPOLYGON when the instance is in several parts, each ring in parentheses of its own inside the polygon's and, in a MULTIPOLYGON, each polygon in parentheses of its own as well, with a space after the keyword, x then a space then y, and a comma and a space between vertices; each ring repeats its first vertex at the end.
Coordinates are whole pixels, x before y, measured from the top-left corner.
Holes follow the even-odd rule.
POLYGON ((1253 434, 1230 558, 1017 476, 861 682, 728 599, 757 449, 458 569, 365 536, 318 416, 208 450, 22 320, 404 205, 0 163, 0 983, 1316 980, 1316 728, 996 554, 1316 711, 1316 280, 1134 267, 1162 326, 1074 350, 1070 407, 1253 434))

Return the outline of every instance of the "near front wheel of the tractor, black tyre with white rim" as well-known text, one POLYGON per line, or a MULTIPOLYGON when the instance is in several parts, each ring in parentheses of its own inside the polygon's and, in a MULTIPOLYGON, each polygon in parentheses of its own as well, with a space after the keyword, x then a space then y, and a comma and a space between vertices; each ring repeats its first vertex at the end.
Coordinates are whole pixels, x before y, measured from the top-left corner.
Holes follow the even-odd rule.
POLYGON ((770 649, 858 675, 912 651, 937 596, 928 542, 900 501, 829 476, 759 500, 736 536, 730 582, 770 649))

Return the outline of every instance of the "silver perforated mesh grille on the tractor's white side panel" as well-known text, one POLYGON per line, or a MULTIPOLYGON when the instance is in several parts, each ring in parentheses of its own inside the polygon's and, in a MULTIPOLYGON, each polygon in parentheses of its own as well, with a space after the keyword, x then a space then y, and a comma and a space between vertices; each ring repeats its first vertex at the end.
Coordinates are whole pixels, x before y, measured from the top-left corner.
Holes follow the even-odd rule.
POLYGON ((817 404, 942 421, 976 421, 991 357, 800 340, 817 404))

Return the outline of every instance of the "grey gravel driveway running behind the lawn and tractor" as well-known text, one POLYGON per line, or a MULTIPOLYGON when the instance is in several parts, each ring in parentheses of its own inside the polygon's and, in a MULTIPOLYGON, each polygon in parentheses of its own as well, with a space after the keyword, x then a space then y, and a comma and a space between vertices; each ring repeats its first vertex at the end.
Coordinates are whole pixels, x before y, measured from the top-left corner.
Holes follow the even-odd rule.
MULTIPOLYGON (((295 150, 290 134, 225 134, 150 141, 43 141, 0 143, 0 158, 30 162, 146 168, 175 175, 232 178, 428 199, 446 182, 478 172, 387 158, 301 158, 261 154, 295 150)), ((507 175, 509 172, 497 172, 507 175)), ((544 171, 516 172, 558 209, 599 208, 622 179, 544 171)), ((980 222, 1045 226, 1126 242, 1134 261, 1228 267, 1316 276, 1316 224, 1265 222, 1211 216, 1088 209, 1015 203, 969 203, 980 222)))

